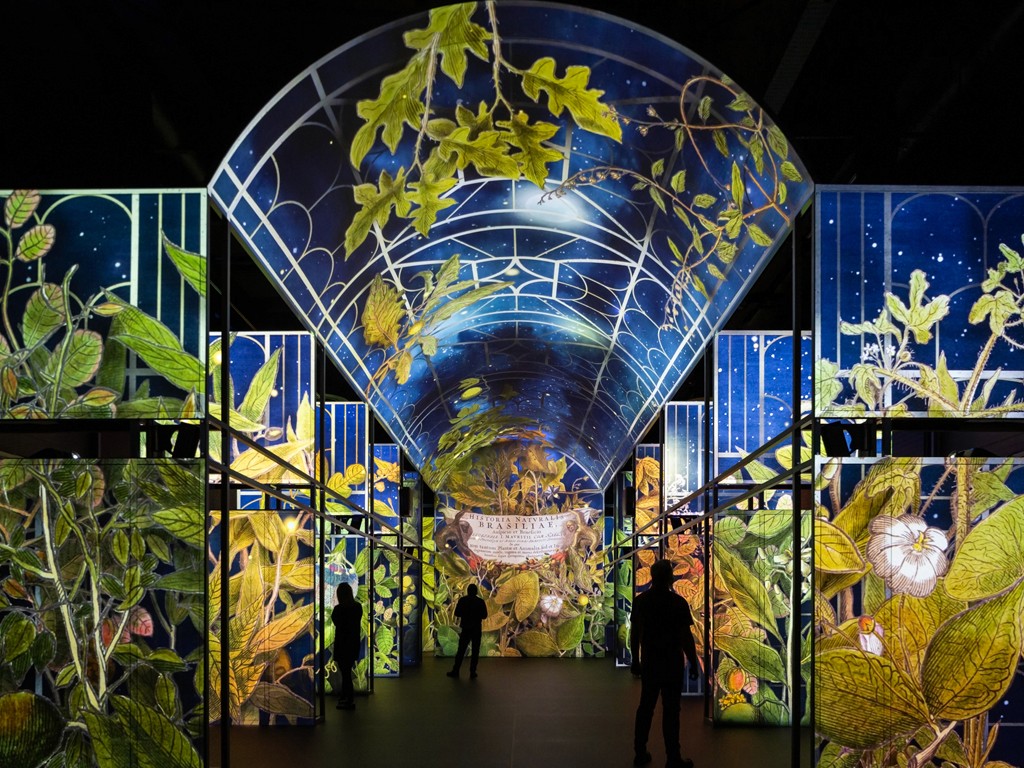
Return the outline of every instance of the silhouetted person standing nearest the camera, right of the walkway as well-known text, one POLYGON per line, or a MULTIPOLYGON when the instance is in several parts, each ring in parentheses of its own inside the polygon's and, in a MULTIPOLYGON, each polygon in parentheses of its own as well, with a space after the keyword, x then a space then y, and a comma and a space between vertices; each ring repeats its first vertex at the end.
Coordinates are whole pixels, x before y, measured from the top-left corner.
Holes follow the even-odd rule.
POLYGON ((693 616, 682 595, 672 590, 673 565, 658 560, 650 568, 650 589, 637 595, 630 614, 632 672, 640 676, 640 703, 633 732, 633 765, 650 762, 647 736, 654 705, 662 696, 662 734, 667 768, 692 768, 679 753, 679 699, 683 693, 683 654, 690 663, 690 679, 697 676, 697 653, 690 627, 693 616))

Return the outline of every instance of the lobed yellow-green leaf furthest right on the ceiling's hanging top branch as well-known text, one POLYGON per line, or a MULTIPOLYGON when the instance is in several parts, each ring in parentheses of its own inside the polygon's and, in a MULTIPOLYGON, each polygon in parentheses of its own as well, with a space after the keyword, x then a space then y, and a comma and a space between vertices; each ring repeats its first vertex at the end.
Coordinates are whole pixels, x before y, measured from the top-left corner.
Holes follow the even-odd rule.
POLYGON ((604 91, 588 89, 589 80, 590 68, 580 66, 568 67, 564 78, 557 77, 555 59, 545 56, 523 73, 522 89, 535 101, 541 91, 547 93, 548 110, 556 118, 567 109, 581 128, 622 141, 622 126, 600 101, 604 91))

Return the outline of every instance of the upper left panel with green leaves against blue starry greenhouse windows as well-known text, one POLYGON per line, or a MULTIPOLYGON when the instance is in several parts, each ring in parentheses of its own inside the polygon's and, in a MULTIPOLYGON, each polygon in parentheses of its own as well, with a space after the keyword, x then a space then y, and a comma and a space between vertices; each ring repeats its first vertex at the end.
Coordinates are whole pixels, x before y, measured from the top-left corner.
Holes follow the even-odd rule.
POLYGON ((202 416, 205 190, 3 201, 0 419, 202 416))

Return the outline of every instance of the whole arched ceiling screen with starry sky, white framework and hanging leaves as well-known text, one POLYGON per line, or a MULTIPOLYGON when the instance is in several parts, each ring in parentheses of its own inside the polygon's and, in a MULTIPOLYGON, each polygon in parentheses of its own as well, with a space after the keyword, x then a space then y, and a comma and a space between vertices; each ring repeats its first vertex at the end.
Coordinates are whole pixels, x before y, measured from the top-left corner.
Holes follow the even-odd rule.
POLYGON ((321 59, 211 193, 435 489, 515 440, 604 487, 811 184, 680 45, 503 0, 321 59))

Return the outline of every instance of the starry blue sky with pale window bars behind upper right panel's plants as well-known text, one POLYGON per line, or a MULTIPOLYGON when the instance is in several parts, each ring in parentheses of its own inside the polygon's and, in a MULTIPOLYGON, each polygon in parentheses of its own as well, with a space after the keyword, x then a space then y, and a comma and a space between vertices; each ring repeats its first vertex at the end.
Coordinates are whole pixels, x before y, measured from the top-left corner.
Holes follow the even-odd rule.
MULTIPOLYGON (((906 303, 910 274, 920 269, 929 284, 925 301, 948 296, 949 313, 928 342, 910 345, 906 373, 916 376, 914 362, 935 368, 941 353, 963 388, 990 335, 987 322, 969 322, 971 307, 982 296, 988 270, 1002 259, 999 244, 1021 251, 1024 189, 827 186, 818 187, 815 210, 816 356, 838 362, 845 381, 855 365, 871 358, 879 342, 871 334, 841 333, 841 323, 877 319, 886 306, 886 293, 906 303)), ((1005 341, 992 347, 982 374, 983 380, 998 376, 990 404, 1010 395, 1018 401, 1024 396, 1020 358, 1020 350, 1005 341)), ((906 395, 905 390, 891 390, 880 404, 892 406, 906 395)), ((846 383, 837 402, 853 397, 846 383)), ((907 407, 919 414, 928 411, 920 397, 909 397, 907 407)))

